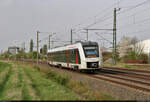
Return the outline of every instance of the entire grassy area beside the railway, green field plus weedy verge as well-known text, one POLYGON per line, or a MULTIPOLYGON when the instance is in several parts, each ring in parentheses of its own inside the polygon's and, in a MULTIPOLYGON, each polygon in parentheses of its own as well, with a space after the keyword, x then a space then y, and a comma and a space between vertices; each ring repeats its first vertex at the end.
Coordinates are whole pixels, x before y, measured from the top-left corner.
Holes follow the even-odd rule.
POLYGON ((115 100, 73 80, 42 68, 0 62, 0 100, 115 100))

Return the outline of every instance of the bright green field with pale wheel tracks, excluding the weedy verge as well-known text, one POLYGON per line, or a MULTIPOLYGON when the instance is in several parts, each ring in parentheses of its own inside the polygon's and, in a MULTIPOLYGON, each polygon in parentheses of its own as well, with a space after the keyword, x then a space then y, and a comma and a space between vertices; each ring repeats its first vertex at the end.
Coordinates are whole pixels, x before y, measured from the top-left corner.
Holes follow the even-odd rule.
POLYGON ((0 100, 78 100, 70 89, 21 64, 0 62, 0 100))

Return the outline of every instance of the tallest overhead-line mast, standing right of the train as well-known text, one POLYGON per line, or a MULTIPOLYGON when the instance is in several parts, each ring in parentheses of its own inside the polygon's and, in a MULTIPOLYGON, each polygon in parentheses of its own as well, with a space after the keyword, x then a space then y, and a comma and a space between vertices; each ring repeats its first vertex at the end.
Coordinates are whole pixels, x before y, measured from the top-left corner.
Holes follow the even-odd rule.
POLYGON ((114 8, 114 25, 113 25, 113 65, 116 65, 116 8, 114 8))

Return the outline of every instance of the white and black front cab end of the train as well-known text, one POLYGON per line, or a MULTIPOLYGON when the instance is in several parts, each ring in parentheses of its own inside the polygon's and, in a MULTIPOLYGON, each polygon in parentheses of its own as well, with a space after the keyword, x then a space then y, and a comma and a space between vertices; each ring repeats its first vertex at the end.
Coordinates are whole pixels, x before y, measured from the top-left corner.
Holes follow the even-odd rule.
POLYGON ((102 54, 97 43, 88 43, 82 45, 83 60, 81 70, 98 71, 102 68, 102 54))

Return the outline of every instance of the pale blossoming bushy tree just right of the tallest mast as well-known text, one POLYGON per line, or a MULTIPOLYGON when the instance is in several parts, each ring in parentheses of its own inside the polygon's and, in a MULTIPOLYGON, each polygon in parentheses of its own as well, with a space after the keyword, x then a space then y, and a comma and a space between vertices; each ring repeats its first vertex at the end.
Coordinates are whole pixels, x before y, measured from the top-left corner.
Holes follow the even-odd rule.
POLYGON ((126 62, 128 60, 146 60, 147 55, 143 53, 144 44, 136 37, 123 37, 119 43, 120 57, 126 62))

